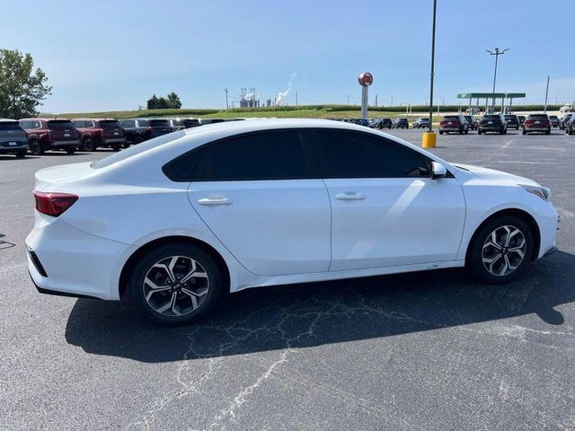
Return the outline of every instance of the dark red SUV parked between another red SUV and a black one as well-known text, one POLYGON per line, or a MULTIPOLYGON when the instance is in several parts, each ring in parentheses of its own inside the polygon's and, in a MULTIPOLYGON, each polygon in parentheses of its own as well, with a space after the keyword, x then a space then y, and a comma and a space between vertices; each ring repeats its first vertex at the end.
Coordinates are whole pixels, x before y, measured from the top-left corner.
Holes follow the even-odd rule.
POLYGON ((124 129, 116 119, 72 119, 72 124, 80 132, 80 151, 96 151, 100 147, 127 147, 124 129))

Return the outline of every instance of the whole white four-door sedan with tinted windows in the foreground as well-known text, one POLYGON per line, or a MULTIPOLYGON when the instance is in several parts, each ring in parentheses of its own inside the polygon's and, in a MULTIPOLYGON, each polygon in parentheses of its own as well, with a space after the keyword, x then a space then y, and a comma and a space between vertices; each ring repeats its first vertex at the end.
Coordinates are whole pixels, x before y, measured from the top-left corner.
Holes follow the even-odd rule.
POLYGON ((34 196, 41 293, 128 298, 166 324, 248 287, 464 266, 503 283, 556 250, 533 180, 330 120, 181 130, 43 169, 34 196))

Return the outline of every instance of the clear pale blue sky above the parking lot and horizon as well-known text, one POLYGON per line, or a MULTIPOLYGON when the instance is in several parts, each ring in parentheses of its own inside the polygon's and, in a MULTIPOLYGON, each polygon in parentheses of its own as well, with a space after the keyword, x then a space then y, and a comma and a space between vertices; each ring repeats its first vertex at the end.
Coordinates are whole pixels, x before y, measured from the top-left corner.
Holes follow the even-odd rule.
MULTIPOLYGON (((429 101, 432 0, 1 0, 0 48, 30 52, 53 86, 43 112, 134 110, 176 92, 184 108, 261 101, 429 101)), ((572 2, 438 0, 435 102, 458 92, 526 92, 575 100, 572 2)))

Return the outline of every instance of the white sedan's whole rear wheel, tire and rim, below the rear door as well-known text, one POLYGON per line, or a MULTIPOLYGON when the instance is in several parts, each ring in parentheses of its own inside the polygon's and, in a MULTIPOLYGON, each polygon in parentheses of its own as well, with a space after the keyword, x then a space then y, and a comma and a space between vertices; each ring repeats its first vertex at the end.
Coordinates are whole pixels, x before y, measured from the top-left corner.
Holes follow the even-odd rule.
POLYGON ((225 289, 217 261, 190 244, 157 247, 138 259, 128 282, 136 311, 164 325, 195 321, 208 312, 225 289))

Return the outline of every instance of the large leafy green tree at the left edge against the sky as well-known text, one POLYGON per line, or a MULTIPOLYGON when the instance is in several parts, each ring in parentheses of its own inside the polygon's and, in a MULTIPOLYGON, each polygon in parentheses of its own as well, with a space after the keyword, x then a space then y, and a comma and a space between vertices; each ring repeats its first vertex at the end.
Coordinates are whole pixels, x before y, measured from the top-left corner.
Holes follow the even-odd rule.
POLYGON ((0 49, 0 117, 22 119, 38 114, 52 87, 40 67, 34 69, 30 53, 0 49))

